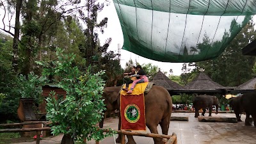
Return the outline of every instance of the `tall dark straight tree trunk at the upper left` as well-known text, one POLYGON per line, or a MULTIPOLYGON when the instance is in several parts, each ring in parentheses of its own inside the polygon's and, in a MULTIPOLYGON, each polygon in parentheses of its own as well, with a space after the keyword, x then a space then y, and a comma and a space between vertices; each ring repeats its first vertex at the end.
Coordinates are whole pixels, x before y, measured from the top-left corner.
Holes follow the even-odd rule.
POLYGON ((15 27, 14 27, 14 36, 13 36, 13 60, 12 65, 15 72, 18 71, 18 45, 19 45, 19 36, 20 36, 20 9, 22 5, 22 0, 16 1, 16 14, 15 14, 15 27))

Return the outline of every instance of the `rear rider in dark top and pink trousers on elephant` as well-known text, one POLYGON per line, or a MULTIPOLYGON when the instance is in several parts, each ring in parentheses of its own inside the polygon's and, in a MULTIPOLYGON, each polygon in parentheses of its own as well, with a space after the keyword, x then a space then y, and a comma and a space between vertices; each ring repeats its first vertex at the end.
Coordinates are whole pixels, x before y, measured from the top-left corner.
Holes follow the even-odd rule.
POLYGON ((146 72, 141 68, 140 65, 137 65, 138 73, 131 75, 130 77, 137 77, 135 81, 132 82, 131 90, 129 90, 127 93, 132 93, 132 90, 136 86, 137 83, 145 83, 148 82, 148 77, 146 76, 146 72))

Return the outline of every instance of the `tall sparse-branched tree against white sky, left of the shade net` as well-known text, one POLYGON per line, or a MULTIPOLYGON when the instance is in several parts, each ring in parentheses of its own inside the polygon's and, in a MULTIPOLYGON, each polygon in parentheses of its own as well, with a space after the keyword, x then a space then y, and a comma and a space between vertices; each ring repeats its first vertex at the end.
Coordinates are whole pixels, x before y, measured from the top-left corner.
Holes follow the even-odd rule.
POLYGON ((86 24, 86 29, 84 30, 86 42, 84 45, 81 45, 80 51, 84 54, 84 58, 86 58, 87 67, 99 62, 99 56, 103 52, 106 52, 111 42, 111 38, 108 38, 106 43, 100 47, 99 34, 97 33, 97 29, 100 29, 100 32, 104 33, 104 27, 108 23, 107 17, 97 22, 98 13, 103 10, 105 3, 99 3, 97 0, 87 0, 85 3, 85 12, 79 10, 81 20, 86 24))

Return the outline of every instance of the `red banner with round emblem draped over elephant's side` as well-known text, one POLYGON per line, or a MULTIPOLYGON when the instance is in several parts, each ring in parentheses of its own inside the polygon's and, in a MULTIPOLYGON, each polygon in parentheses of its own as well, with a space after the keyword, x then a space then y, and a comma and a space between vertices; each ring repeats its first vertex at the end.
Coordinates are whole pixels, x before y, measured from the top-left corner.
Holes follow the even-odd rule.
POLYGON ((121 95, 121 129, 146 131, 144 94, 121 95))

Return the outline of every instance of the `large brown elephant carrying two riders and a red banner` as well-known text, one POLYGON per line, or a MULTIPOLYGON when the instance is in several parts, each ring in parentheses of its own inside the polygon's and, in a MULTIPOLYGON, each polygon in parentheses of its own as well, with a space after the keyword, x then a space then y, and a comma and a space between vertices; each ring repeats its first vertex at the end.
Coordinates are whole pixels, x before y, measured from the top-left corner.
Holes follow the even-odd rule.
MULTIPOLYGON (((104 88, 102 98, 105 99, 104 103, 106 104, 107 111, 113 111, 116 108, 120 108, 120 90, 121 86, 112 86, 104 88)), ((160 124, 162 133, 168 134, 170 118, 172 115, 172 97, 168 91, 161 87, 153 85, 151 90, 145 94, 145 118, 146 125, 150 132, 158 134, 157 125, 160 124)), ((120 113, 118 130, 120 130, 120 113)), ((100 122, 103 126, 103 122, 100 122)), ((127 144, 136 144, 132 136, 127 135, 128 142, 127 144)), ((154 144, 164 143, 159 138, 153 138, 154 144)), ((121 136, 118 135, 116 142, 120 143, 121 136)))

